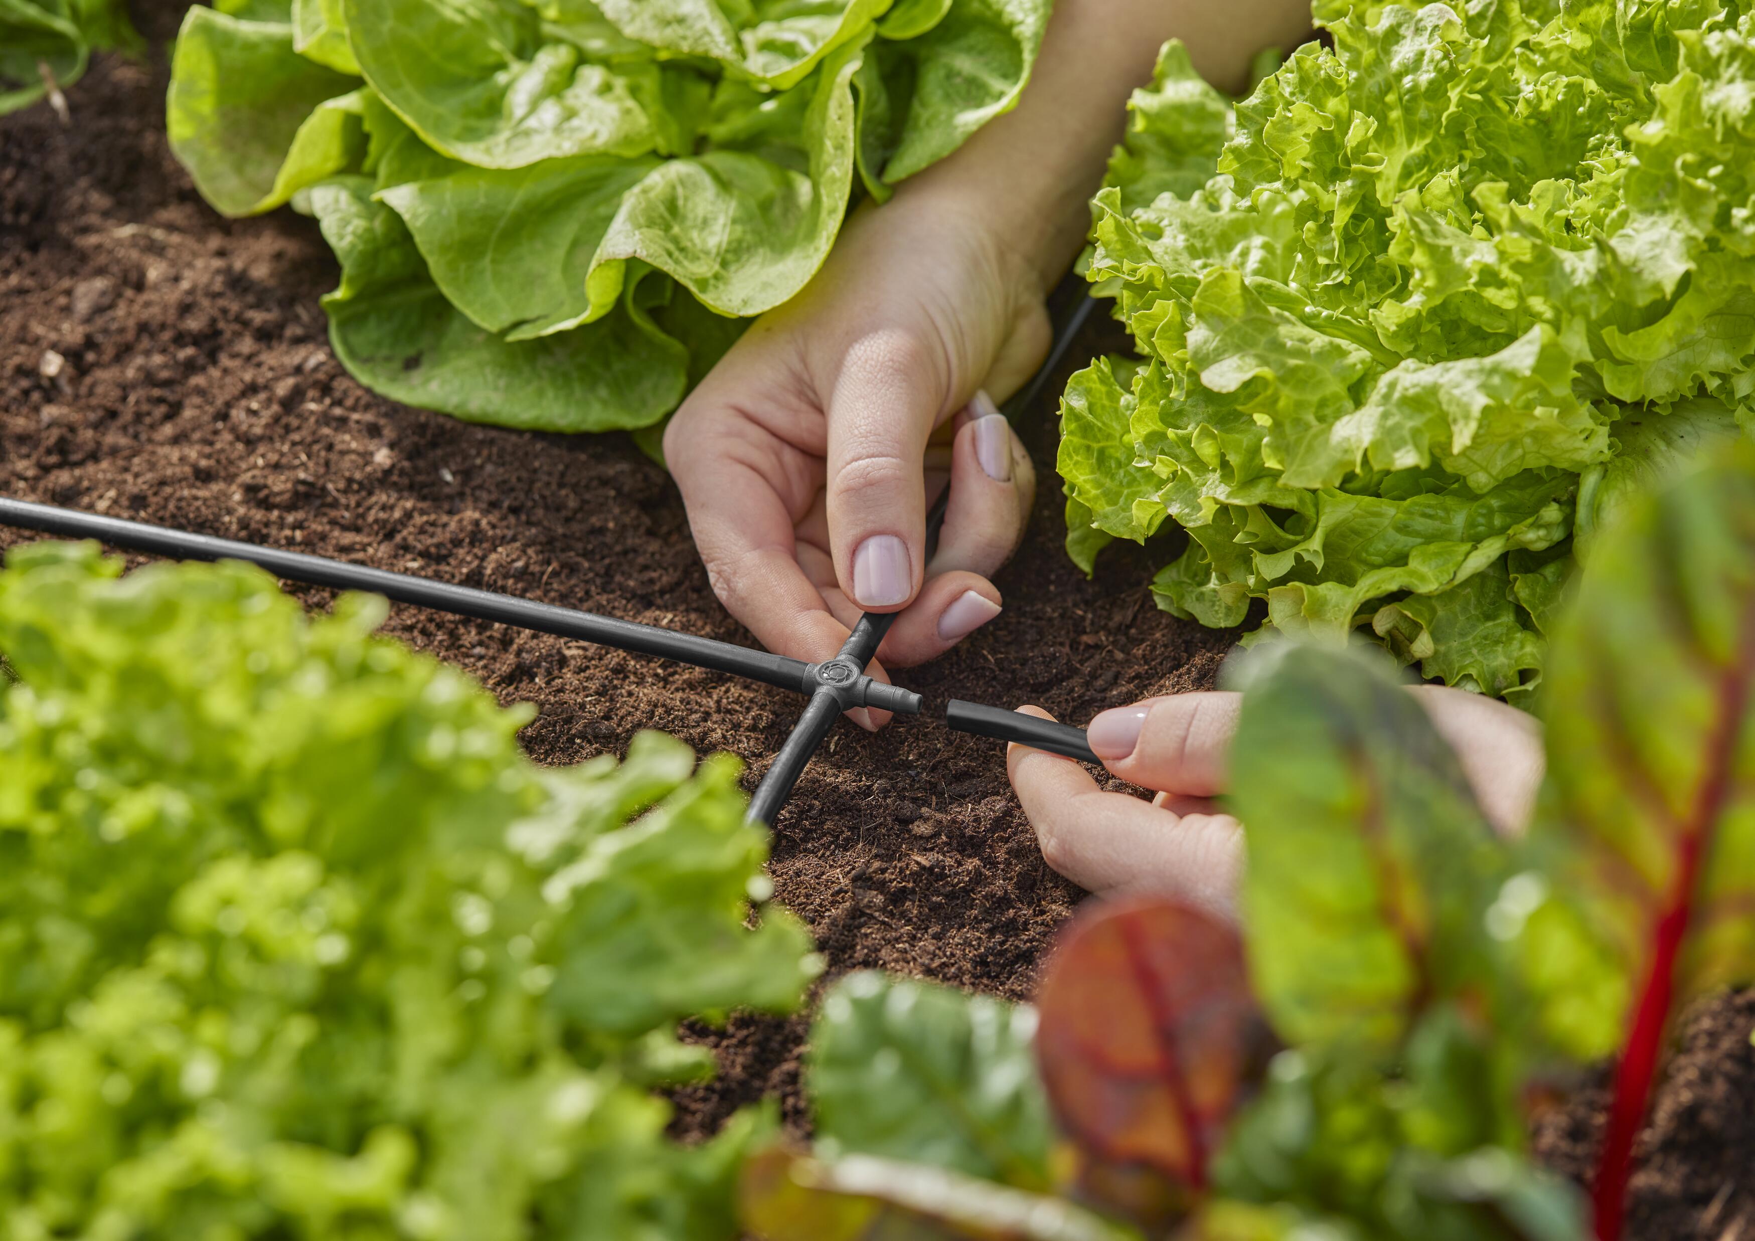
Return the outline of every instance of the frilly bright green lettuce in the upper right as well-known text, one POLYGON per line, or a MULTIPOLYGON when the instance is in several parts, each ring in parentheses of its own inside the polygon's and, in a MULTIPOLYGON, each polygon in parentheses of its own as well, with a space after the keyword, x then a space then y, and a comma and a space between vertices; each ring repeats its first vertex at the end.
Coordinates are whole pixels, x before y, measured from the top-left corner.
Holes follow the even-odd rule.
POLYGON ((1539 678, 1574 558, 1755 388, 1743 90, 1692 0, 1322 0, 1228 107, 1178 46, 1093 204, 1139 358, 1064 405, 1069 549, 1165 521, 1204 625, 1369 628, 1427 678, 1539 678))

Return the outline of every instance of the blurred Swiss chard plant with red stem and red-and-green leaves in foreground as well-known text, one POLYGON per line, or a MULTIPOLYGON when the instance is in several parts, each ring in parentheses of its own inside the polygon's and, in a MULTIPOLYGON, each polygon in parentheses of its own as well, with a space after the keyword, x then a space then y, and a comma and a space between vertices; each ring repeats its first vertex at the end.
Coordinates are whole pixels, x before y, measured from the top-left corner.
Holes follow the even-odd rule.
POLYGON ((1678 1008, 1755 981, 1755 449, 1629 497, 1602 534, 1557 620, 1523 837, 1495 834, 1371 648, 1269 644, 1239 681, 1241 927, 1097 904, 1034 1008, 842 981, 813 1032, 816 1148, 749 1164, 748 1227, 1623 1236, 1678 1008), (1602 1058, 1587 1201, 1530 1166, 1525 1106, 1602 1058))

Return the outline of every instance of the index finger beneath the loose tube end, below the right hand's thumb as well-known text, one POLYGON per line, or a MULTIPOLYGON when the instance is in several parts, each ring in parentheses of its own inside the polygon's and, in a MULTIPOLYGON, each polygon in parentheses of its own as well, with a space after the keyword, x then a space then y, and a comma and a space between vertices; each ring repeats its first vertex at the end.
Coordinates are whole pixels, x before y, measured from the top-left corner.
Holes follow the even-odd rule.
POLYGON ((1086 892, 1150 892, 1236 918, 1243 829, 1230 814, 1178 818, 1137 797, 1102 792, 1071 758, 1018 744, 1007 748, 1006 771, 1042 858, 1086 892))

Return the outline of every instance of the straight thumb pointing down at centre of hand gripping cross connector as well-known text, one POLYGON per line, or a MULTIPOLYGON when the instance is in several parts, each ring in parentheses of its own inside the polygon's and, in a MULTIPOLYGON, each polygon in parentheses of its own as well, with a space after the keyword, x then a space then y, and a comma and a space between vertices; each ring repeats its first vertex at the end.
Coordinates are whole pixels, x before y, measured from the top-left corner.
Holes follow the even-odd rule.
POLYGON ((828 390, 827 509, 835 576, 865 611, 893 613, 925 574, 927 439, 946 412, 942 353, 900 330, 858 339, 828 390))

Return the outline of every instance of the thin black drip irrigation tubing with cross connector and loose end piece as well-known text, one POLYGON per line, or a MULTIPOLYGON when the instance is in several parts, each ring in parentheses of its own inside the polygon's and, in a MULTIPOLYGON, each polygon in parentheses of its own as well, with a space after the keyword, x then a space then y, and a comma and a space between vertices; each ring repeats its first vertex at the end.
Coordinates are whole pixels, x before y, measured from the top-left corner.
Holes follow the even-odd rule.
MULTIPOLYGON (((1041 395, 1055 367, 1065 356, 1079 328, 1090 318, 1095 302, 1079 295, 1072 311, 1055 332, 1055 346, 1035 377, 1006 404, 1006 414, 1016 418, 1028 409, 1041 395)), ((944 525, 944 509, 949 488, 927 514, 927 558, 939 541, 939 528, 944 525)), ((865 613, 853 627, 848 641, 832 660, 806 664, 784 655, 770 655, 734 642, 720 642, 695 634, 679 634, 658 625, 639 625, 635 621, 581 613, 572 607, 539 604, 516 595, 500 595, 472 586, 455 586, 428 577, 390 572, 384 569, 367 569, 344 560, 326 560, 325 556, 307 556, 300 551, 281 551, 277 548, 258 548, 235 539, 216 539, 188 530, 170 530, 144 521, 125 521, 105 518, 77 509, 61 509, 53 504, 33 504, 0 497, 0 525, 65 539, 97 539, 112 548, 128 548, 154 556, 172 560, 242 560, 272 572, 283 581, 297 581, 307 586, 328 586, 332 590, 363 590, 383 595, 397 604, 412 604, 430 611, 469 616, 474 620, 512 625, 537 634, 556 637, 574 637, 598 646, 612 646, 621 651, 639 655, 656 655, 658 658, 691 664, 714 672, 730 672, 749 681, 772 685, 809 697, 804 714, 793 725, 792 735, 781 746, 767 774, 749 799, 749 818, 772 825, 779 811, 792 797, 799 776, 809 765, 818 748, 835 727, 835 720, 853 707, 876 707, 895 714, 920 714, 921 697, 900 686, 885 685, 870 678, 865 667, 878 655, 885 634, 895 620, 893 613, 865 613)), ((992 737, 995 741, 1016 741, 1035 750, 1048 750, 1067 758, 1097 764, 1085 741, 1085 730, 1072 725, 1037 720, 1018 714, 1004 707, 988 707, 978 702, 951 699, 944 713, 946 727, 956 732, 992 737)))

